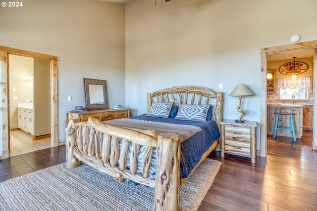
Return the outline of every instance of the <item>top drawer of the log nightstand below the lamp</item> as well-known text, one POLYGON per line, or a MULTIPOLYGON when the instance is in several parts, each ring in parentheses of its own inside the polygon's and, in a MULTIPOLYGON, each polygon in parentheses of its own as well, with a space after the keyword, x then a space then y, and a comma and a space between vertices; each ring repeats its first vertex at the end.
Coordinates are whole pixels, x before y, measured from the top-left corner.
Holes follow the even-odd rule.
POLYGON ((225 139, 250 142, 250 127, 225 126, 225 139))

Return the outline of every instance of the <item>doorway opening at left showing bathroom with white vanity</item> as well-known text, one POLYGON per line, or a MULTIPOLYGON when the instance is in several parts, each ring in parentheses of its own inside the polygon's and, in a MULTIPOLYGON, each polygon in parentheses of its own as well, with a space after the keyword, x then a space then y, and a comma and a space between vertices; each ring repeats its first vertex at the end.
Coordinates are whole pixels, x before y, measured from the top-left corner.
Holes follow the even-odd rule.
POLYGON ((10 157, 51 147, 50 61, 8 55, 10 157))

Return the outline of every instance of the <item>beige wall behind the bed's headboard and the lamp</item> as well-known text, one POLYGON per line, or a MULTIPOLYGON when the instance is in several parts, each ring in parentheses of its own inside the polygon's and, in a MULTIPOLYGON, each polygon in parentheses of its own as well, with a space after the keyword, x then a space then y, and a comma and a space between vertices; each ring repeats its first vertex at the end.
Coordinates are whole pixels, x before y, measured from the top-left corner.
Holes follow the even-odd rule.
MULTIPOLYGON (((317 1, 132 0, 126 4, 126 106, 147 112, 146 93, 176 85, 224 92, 224 119, 237 119, 236 84, 245 120, 256 121, 260 149, 260 49, 317 40, 317 1), (296 15, 294 15, 296 14, 296 15), (223 89, 219 89, 223 84, 223 89)), ((264 93, 265 94, 265 93, 264 93)))

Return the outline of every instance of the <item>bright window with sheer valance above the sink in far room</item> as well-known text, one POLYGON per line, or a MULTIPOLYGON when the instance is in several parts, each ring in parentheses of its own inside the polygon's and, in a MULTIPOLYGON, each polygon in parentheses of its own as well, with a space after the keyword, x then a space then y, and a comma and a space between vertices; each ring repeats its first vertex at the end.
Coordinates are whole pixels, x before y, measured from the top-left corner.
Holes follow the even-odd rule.
POLYGON ((279 90, 279 99, 291 100, 294 94, 295 99, 308 100, 311 77, 277 79, 277 88, 279 90))

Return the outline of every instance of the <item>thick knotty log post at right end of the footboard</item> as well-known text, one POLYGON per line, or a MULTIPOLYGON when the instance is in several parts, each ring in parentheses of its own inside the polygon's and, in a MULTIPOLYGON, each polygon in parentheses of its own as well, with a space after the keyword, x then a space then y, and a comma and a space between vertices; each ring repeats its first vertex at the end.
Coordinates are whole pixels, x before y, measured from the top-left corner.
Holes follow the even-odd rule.
POLYGON ((154 211, 179 210, 180 182, 180 138, 159 136, 154 211))

